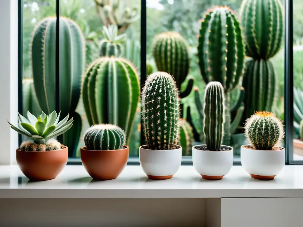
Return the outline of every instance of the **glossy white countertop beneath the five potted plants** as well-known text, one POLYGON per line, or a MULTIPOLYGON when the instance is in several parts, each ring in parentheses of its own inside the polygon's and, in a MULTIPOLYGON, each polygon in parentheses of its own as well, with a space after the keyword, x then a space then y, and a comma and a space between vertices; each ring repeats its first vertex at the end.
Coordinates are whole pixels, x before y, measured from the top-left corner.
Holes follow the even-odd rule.
POLYGON ((0 198, 227 198, 303 197, 303 165, 285 166, 271 181, 252 179, 233 166, 219 181, 204 180, 193 166, 172 179, 150 180, 140 166, 126 166, 117 179, 95 181, 83 166, 66 166, 56 179, 30 182, 18 166, 0 166, 0 198))

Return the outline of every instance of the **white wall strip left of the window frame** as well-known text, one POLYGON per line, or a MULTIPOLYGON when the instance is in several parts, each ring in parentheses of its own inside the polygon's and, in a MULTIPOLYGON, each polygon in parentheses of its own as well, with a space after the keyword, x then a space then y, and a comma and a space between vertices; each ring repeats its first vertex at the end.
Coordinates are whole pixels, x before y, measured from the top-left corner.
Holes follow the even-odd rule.
POLYGON ((18 0, 0 0, 0 165, 15 163, 18 133, 18 0))

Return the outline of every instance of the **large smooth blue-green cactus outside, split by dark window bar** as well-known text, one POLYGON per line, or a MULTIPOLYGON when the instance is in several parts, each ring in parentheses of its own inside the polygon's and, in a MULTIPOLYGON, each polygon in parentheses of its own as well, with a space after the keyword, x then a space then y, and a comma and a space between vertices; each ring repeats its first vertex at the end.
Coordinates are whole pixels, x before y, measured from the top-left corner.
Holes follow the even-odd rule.
MULTIPOLYGON (((62 116, 75 112, 85 67, 85 40, 81 29, 68 18, 60 18, 60 110, 62 116)), ((48 17, 33 31, 32 70, 35 91, 41 109, 55 110, 56 18, 48 17)))

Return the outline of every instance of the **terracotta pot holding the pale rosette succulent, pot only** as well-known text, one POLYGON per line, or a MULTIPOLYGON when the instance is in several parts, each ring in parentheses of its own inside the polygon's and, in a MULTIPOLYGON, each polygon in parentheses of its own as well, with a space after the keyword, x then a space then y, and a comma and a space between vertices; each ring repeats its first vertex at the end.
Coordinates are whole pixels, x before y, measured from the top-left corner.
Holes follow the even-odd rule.
POLYGON ((68 147, 51 151, 16 149, 16 160, 22 173, 33 181, 51 180, 61 173, 68 161, 68 147))

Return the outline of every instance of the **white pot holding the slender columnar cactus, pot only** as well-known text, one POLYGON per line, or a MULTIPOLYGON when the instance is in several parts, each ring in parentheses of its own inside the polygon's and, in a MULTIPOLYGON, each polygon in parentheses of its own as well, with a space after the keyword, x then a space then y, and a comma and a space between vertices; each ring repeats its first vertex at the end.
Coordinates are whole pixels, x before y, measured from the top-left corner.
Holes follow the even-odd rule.
POLYGON ((198 150, 195 148, 197 146, 192 147, 192 162, 203 179, 221 180, 228 174, 234 161, 234 149, 231 146, 225 146, 230 148, 226 151, 198 150))

